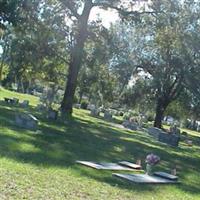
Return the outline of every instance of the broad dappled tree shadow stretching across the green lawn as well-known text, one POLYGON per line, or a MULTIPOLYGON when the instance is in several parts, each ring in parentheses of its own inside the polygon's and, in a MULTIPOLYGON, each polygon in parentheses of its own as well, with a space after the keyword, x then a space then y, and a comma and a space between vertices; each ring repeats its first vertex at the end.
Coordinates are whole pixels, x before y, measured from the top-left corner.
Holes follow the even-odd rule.
MULTIPOLYGON (((131 189, 132 186, 119 181, 111 173, 97 172, 75 164, 75 160, 118 162, 121 160, 143 160, 147 154, 158 154, 162 161, 158 170, 166 171, 175 163, 179 166, 183 191, 199 194, 198 179, 188 180, 194 173, 198 176, 199 157, 192 157, 192 149, 174 149, 158 144, 151 137, 141 132, 119 130, 101 119, 93 119, 83 115, 81 118, 49 122, 45 116, 38 115, 41 121, 39 132, 32 132, 15 127, 9 120, 13 119, 14 108, 0 107, 0 156, 18 162, 31 163, 46 167, 70 167, 83 176, 108 183, 112 186, 131 189), (85 118, 86 117, 86 118, 85 118), (7 120, 6 120, 7 119, 7 120)), ((34 114, 37 114, 36 112, 34 114)), ((134 186, 134 190, 154 190, 154 186, 134 186)))

